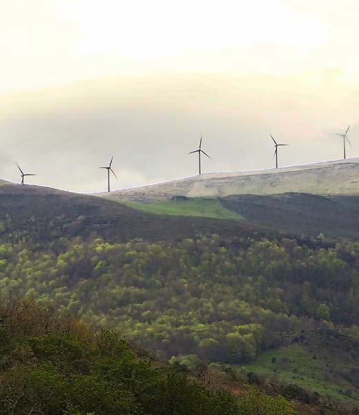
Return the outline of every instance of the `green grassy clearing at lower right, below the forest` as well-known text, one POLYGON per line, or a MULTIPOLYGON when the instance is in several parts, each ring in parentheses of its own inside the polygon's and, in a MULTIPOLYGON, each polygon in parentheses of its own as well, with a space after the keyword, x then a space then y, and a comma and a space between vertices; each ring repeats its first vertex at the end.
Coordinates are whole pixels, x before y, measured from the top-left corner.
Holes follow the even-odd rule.
POLYGON ((338 356, 313 354, 299 345, 269 350, 246 365, 248 372, 275 376, 284 383, 293 383, 321 396, 330 396, 338 403, 359 406, 359 393, 341 374, 350 369, 349 362, 338 356), (313 358, 315 357, 315 358, 313 358), (272 358, 276 358, 272 363, 272 358), (351 396, 347 396, 351 391, 351 396))

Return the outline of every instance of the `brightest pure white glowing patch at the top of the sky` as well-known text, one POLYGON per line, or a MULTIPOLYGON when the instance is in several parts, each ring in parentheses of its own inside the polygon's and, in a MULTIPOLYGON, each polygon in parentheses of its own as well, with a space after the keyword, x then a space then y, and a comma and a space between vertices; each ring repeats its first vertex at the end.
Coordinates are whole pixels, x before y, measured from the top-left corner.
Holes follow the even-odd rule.
POLYGON ((329 40, 318 19, 295 14, 278 0, 78 0, 63 10, 81 29, 81 54, 155 59, 260 43, 313 47, 329 40))

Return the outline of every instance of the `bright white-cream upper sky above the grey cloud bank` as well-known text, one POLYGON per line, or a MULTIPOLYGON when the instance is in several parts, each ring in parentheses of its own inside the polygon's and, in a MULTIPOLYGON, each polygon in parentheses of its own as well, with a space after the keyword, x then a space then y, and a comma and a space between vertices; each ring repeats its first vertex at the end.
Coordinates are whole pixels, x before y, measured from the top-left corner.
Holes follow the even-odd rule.
MULTIPOLYGON (((6 1, 0 15, 0 51, 6 76, 0 90, 124 72, 282 73, 318 68, 318 58, 324 66, 331 65, 335 59, 326 54, 326 46, 333 45, 331 52, 341 56, 343 40, 331 17, 340 22, 340 14, 343 18, 347 15, 341 7, 338 13, 331 10, 330 3, 336 1, 315 3, 6 1), (324 10, 319 3, 325 5, 324 10), (283 54, 288 59, 283 59, 283 54)), ((358 9, 355 2, 343 3, 358 9)))

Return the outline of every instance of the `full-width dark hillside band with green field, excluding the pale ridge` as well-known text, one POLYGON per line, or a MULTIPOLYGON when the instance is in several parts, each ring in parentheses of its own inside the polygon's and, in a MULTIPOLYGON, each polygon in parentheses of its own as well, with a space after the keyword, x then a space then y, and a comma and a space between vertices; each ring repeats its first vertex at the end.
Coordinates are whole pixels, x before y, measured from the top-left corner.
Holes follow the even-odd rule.
POLYGON ((133 238, 177 241, 197 234, 359 236, 359 195, 175 196, 138 203, 111 195, 108 200, 35 185, 5 184, 0 185, 0 238, 11 241, 94 234, 122 242, 133 238))

